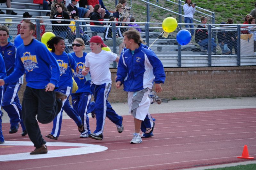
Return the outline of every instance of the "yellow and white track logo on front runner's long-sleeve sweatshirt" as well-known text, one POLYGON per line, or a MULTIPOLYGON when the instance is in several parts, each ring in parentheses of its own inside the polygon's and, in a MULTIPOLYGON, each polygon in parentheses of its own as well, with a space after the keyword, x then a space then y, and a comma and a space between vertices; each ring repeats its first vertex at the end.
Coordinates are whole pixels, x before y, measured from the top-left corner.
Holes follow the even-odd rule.
POLYGON ((31 55, 30 52, 23 53, 23 57, 21 57, 21 61, 24 65, 24 69, 28 71, 33 71, 33 69, 39 68, 37 66, 37 56, 31 55))

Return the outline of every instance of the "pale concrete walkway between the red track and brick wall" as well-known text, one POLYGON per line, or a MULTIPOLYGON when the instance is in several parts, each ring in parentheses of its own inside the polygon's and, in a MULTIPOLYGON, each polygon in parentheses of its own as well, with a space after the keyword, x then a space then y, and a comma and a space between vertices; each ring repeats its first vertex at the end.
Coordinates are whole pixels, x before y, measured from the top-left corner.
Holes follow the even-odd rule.
MULTIPOLYGON (((119 115, 128 115, 127 103, 111 103, 111 106, 119 115)), ((153 103, 150 105, 149 112, 155 113, 173 113, 188 111, 207 111, 207 110, 223 110, 223 109, 244 109, 256 108, 256 97, 238 97, 238 98, 218 98, 218 99, 193 99, 193 100, 171 100, 168 103, 158 105, 153 103)), ((4 112, 2 118, 3 123, 9 122, 7 113, 4 112)), ((89 114, 89 117, 91 114, 89 114)), ((66 113, 63 119, 69 119, 66 113)))

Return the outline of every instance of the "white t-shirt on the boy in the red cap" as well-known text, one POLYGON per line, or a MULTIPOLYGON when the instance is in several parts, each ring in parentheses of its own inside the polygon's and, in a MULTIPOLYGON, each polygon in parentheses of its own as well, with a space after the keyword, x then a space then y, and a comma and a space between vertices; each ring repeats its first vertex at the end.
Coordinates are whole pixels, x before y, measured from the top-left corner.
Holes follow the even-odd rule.
POLYGON ((112 83, 109 65, 116 58, 117 54, 104 50, 98 54, 93 52, 87 53, 85 56, 85 66, 90 68, 93 84, 102 85, 104 83, 112 83))

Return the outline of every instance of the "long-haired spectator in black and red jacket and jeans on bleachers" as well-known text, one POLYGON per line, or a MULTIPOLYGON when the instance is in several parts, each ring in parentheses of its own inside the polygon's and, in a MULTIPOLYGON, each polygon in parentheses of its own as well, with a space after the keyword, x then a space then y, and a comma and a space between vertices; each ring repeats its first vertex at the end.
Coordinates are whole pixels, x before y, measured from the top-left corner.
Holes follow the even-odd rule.
MULTIPOLYGON (((101 5, 100 4, 96 4, 94 7, 94 12, 91 13, 91 18, 90 20, 93 21, 104 21, 103 18, 100 15, 100 11, 101 11, 101 5)), ((90 25, 97 25, 97 26, 104 26, 107 25, 106 23, 103 22, 90 22, 90 25)), ((91 30, 94 32, 99 32, 99 33, 104 33, 106 27, 91 27, 91 30)))

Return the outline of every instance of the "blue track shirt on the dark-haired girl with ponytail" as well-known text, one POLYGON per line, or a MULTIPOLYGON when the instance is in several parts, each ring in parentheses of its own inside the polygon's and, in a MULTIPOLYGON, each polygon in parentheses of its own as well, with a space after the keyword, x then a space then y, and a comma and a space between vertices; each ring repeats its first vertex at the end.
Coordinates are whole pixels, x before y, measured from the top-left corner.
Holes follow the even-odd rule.
POLYGON ((72 87, 72 70, 76 71, 77 63, 72 55, 63 52, 61 55, 52 53, 54 58, 57 60, 60 67, 60 81, 58 82, 59 87, 72 87), (70 67, 71 66, 71 67, 70 67))

